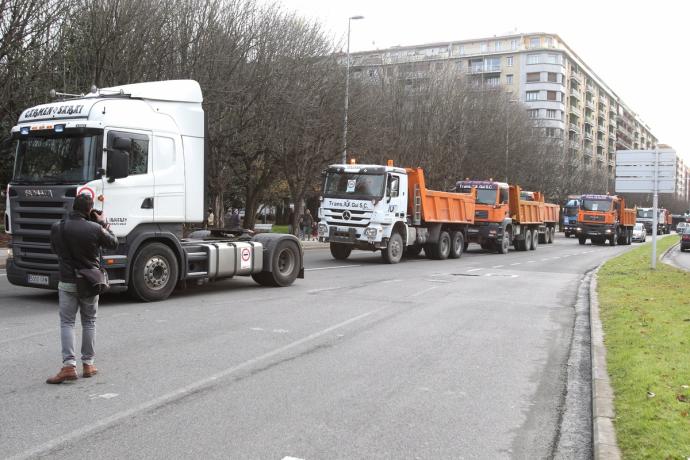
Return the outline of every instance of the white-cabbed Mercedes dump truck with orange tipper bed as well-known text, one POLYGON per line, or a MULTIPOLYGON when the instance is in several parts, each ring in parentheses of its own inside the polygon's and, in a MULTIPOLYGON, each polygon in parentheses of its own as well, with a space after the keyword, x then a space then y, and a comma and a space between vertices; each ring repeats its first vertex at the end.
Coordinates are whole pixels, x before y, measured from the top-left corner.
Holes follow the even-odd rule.
POLYGON ((467 226, 473 222, 475 192, 426 188, 421 168, 334 164, 325 171, 318 211, 319 241, 330 243, 336 259, 353 249, 381 251, 398 263, 406 251, 422 249, 432 259, 462 255, 467 226))

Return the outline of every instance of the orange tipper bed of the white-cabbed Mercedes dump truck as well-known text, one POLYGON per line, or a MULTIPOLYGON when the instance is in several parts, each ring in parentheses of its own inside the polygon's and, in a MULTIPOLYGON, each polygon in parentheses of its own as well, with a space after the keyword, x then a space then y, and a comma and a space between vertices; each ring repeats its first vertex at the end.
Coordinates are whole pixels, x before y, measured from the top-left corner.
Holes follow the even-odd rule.
POLYGON ((408 177, 408 213, 422 222, 473 224, 476 191, 440 192, 426 188, 421 168, 406 168, 408 177))

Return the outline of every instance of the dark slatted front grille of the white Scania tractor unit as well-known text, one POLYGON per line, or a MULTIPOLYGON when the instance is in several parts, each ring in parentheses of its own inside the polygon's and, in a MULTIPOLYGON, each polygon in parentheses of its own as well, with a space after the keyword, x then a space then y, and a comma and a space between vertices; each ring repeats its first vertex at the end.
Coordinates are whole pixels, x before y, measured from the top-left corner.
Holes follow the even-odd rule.
MULTIPOLYGON (((10 196, 12 219, 12 251, 17 266, 55 271, 57 256, 50 249, 50 227, 72 210, 75 186, 11 186, 16 195, 10 196), (31 196, 26 190, 45 190, 41 196, 31 196)), ((36 194, 33 194, 36 195, 36 194)))

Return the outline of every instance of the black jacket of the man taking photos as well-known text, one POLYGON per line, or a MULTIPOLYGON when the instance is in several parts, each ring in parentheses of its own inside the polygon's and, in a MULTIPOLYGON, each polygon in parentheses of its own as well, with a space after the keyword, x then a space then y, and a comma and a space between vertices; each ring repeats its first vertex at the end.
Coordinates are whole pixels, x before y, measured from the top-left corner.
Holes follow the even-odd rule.
POLYGON ((64 222, 64 234, 61 234, 62 221, 51 227, 50 245, 58 256, 60 281, 74 283, 74 270, 99 268, 101 247, 115 249, 117 237, 76 211, 71 212, 64 222))

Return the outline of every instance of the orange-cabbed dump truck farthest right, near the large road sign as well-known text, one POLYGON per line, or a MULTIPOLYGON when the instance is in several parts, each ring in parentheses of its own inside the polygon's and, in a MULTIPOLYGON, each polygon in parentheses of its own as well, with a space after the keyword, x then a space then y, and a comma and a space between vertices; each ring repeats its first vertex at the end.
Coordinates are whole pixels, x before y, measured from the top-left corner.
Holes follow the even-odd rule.
POLYGON ((616 195, 582 195, 577 217, 577 238, 580 244, 587 239, 592 244, 611 246, 631 244, 635 225, 635 209, 625 207, 625 199, 616 195))

